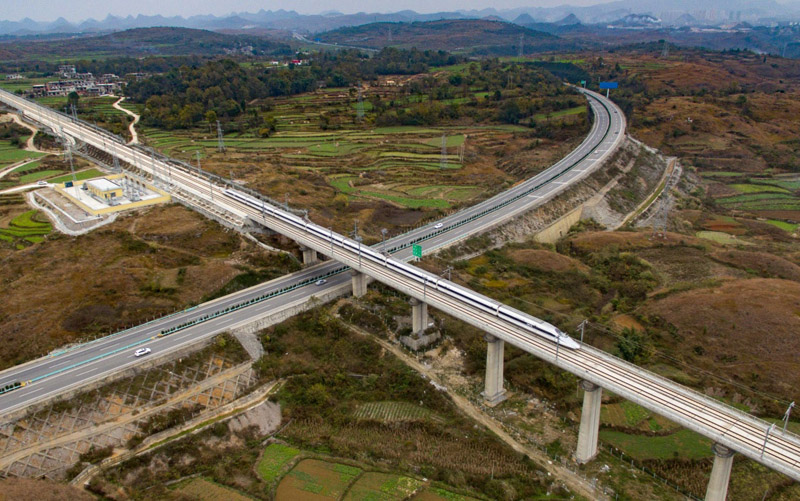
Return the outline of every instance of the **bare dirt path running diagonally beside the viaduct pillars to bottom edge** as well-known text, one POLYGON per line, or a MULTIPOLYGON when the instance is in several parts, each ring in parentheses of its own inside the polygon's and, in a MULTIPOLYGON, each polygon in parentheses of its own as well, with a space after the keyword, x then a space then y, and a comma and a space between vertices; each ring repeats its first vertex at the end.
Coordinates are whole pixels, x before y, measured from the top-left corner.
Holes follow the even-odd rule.
MULTIPOLYGON (((397 358, 402 360, 406 365, 414 369, 415 371, 419 372, 420 374, 424 375, 431 381, 435 382, 437 385, 444 387, 442 382, 438 379, 436 374, 431 371, 429 368, 425 367, 423 364, 418 362, 415 358, 407 355, 402 349, 393 345, 392 343, 380 339, 372 334, 361 330, 351 324, 348 324, 348 327, 353 329, 354 331, 358 332, 363 336, 368 336, 374 339, 378 344, 380 344, 383 348, 393 353, 397 358)), ((525 447, 521 443, 514 440, 514 438, 506 433, 503 427, 492 419, 490 416, 487 416, 481 410, 475 406, 472 402, 468 399, 456 395, 453 392, 448 391, 447 394, 453 400, 453 403, 456 404, 462 412, 464 412, 467 416, 474 419, 475 421, 481 423, 482 425, 486 426, 489 430, 492 431, 495 435, 497 435, 500 440, 511 446, 512 449, 515 451, 525 454, 531 460, 533 460, 536 464, 541 466, 545 471, 550 472, 556 479, 562 481, 564 485, 566 485, 570 490, 579 494, 587 499, 607 499, 602 493, 597 492, 591 484, 580 478, 579 476, 575 475, 572 471, 568 468, 561 466, 558 463, 555 463, 547 457, 542 451, 538 449, 531 449, 525 447)))

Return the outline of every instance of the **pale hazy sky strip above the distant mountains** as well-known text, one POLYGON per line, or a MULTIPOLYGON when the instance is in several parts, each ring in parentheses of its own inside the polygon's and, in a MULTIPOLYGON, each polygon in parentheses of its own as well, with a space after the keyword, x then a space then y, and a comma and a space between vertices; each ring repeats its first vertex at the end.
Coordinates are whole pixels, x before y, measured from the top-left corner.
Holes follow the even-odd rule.
POLYGON ((301 14, 337 10, 353 12, 396 12, 403 9, 417 12, 453 11, 458 9, 511 9, 515 7, 552 7, 554 5, 592 5, 610 0, 0 0, 0 19, 18 21, 25 17, 37 21, 53 21, 64 17, 68 21, 88 18, 103 19, 108 14, 161 14, 191 16, 194 14, 224 15, 231 12, 264 10, 295 10, 301 14))

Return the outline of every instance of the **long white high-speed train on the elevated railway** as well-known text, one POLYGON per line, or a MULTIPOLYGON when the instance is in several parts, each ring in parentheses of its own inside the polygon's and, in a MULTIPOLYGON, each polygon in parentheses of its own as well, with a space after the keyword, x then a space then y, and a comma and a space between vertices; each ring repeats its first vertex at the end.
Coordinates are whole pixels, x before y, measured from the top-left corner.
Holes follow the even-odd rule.
POLYGON ((557 343, 559 346, 573 350, 580 348, 580 345, 574 339, 559 330, 556 326, 551 325, 543 320, 516 311, 504 305, 503 303, 499 303, 480 294, 476 294, 467 288, 426 273, 414 266, 409 266, 402 261, 392 259, 380 252, 376 252, 371 247, 361 246, 358 242, 345 238, 338 233, 334 233, 331 230, 297 217, 294 214, 277 209, 271 204, 267 204, 249 195, 245 195, 244 193, 226 189, 225 195, 263 214, 269 214, 270 216, 278 218, 285 223, 291 224, 298 229, 313 233, 319 238, 327 240, 328 242, 332 242, 334 245, 345 247, 355 253, 360 253, 362 259, 369 259, 370 261, 381 264, 402 275, 412 278, 418 283, 424 284, 426 287, 431 287, 432 289, 444 292, 449 296, 458 298, 461 301, 491 313, 497 318, 511 322, 527 332, 545 339, 549 339, 550 341, 557 343))

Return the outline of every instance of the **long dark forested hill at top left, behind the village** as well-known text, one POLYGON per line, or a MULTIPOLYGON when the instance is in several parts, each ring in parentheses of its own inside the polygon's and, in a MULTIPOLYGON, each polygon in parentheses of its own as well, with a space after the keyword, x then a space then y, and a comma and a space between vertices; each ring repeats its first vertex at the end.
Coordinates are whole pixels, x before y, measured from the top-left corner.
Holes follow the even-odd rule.
POLYGON ((76 57, 100 59, 131 56, 219 56, 226 54, 291 54, 284 43, 247 35, 225 35, 189 28, 137 28, 102 36, 63 40, 10 41, 0 43, 0 62, 25 69, 26 61, 76 57))

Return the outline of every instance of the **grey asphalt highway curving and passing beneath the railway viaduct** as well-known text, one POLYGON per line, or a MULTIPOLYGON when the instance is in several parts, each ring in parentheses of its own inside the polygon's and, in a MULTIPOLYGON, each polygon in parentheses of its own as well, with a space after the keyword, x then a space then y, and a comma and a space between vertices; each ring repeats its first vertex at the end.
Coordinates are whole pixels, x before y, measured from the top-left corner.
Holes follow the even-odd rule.
MULTIPOLYGON (((480 204, 437 221, 437 223, 443 224, 443 228, 437 230, 434 228, 434 223, 431 223, 387 240, 386 247, 408 245, 409 242, 415 241, 422 245, 426 252, 431 252, 455 240, 467 238, 469 235, 498 224, 520 212, 539 206, 570 184, 587 176, 599 165, 599 160, 610 154, 614 144, 621 142, 625 126, 624 117, 612 103, 597 94, 588 95, 589 102, 594 109, 595 122, 585 140, 569 155, 533 178, 480 204)), ((376 247, 380 247, 380 245, 378 244, 376 247)), ((400 259, 410 259, 411 247, 405 247, 394 255, 400 259)), ((18 410, 43 398, 96 381, 111 373, 131 367, 148 357, 180 349, 198 340, 224 332, 230 326, 241 323, 250 317, 266 311, 279 310, 301 298, 349 281, 348 274, 338 274, 329 277, 328 282, 323 286, 311 283, 182 329, 169 336, 156 337, 163 329, 206 315, 213 315, 232 305, 294 287, 300 282, 316 280, 337 268, 341 268, 341 264, 328 262, 302 270, 204 303, 190 310, 80 345, 72 350, 57 352, 51 356, 0 372, 0 387, 14 381, 30 382, 23 388, 0 395, 0 414, 18 410), (153 353, 145 357, 134 357, 133 352, 143 346, 151 348, 153 353)))

